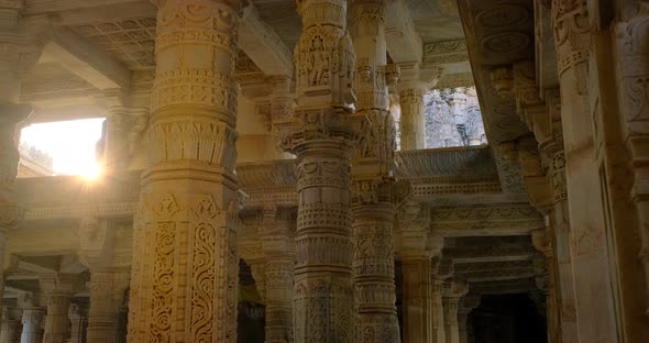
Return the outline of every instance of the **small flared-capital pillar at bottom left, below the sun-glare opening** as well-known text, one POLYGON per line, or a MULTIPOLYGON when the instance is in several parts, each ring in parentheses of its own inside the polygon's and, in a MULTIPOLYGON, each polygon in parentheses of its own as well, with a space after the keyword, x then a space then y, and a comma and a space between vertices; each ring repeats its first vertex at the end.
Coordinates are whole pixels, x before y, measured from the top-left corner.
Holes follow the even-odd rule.
POLYGON ((69 335, 70 300, 80 286, 78 276, 63 273, 45 274, 40 276, 40 284, 47 299, 43 343, 65 343, 69 335))

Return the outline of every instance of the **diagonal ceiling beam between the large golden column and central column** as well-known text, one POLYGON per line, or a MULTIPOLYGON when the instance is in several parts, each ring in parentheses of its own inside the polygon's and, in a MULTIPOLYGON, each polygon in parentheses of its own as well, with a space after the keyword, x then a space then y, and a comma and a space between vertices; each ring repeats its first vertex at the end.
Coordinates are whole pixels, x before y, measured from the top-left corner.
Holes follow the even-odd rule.
POLYGON ((293 55, 277 33, 260 18, 251 3, 241 16, 239 48, 264 71, 265 75, 293 77, 293 55))

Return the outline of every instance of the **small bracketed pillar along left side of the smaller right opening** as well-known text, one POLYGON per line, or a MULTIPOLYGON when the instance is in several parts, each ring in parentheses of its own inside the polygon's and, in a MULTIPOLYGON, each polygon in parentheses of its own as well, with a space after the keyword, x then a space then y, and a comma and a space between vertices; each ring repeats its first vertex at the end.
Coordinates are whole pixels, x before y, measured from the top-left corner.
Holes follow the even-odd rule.
POLYGON ((426 121, 424 96, 437 84, 439 69, 420 69, 419 64, 402 64, 399 79, 399 107, 402 110, 402 150, 418 150, 426 146, 426 121))

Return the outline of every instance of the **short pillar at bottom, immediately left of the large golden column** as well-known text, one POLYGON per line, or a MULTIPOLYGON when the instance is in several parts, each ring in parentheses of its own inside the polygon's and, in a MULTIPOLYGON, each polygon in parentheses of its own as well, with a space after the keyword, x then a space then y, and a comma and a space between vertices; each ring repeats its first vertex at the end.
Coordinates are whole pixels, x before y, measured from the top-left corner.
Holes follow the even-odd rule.
POLYGON ((90 308, 88 310, 88 342, 113 343, 118 316, 124 291, 129 287, 129 270, 96 268, 90 270, 90 308))

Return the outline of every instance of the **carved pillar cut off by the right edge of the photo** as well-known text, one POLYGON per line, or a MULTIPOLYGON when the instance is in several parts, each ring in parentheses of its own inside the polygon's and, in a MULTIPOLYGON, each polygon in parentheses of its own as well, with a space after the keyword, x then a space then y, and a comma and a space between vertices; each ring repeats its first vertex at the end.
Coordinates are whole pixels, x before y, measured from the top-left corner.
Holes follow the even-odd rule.
MULTIPOLYGON (((639 258, 645 270, 645 291, 647 299, 649 297, 649 128, 647 121, 649 120, 649 99, 647 98, 647 88, 649 87, 649 46, 647 36, 649 30, 647 22, 649 21, 649 2, 648 1, 627 1, 620 4, 619 12, 623 13, 623 19, 615 27, 616 44, 616 62, 617 62, 617 87, 618 103, 620 114, 624 120, 624 142, 627 151, 630 153, 632 161, 625 159, 624 163, 630 167, 632 174, 632 186, 630 189, 630 200, 635 206, 635 214, 637 217, 637 228, 640 233, 642 247, 639 253, 639 258)), ((622 177, 626 177, 622 176, 622 177)), ((616 178, 612 176, 610 178, 616 178)), ((626 208, 626 203, 619 204, 626 208)), ((628 234, 628 229, 623 224, 622 229, 630 240, 635 240, 635 235, 628 234)), ((622 234, 620 234, 622 235, 622 234)), ((618 240, 626 240, 619 237, 618 240)), ((618 250, 625 250, 625 244, 618 242, 618 250), (622 246, 622 248, 620 248, 622 246)), ((629 245, 626 245, 629 246, 629 245)), ((620 267, 622 268, 622 267, 620 267)), ((628 268, 628 267, 627 267, 628 268)), ((635 270, 628 268, 625 274, 634 274, 635 270)), ((620 279, 632 281, 632 279, 622 276, 620 279)), ((629 289, 629 288, 627 288, 629 289)), ((637 301, 637 288, 629 290, 622 290, 622 292, 630 292, 630 301, 632 305, 623 305, 623 308, 635 307, 637 301)), ((624 297, 626 298, 626 297, 624 297)), ((649 313, 649 303, 644 303, 645 316, 649 313)), ((623 309, 623 311, 628 311, 623 309)), ((637 313, 636 310, 631 310, 637 313)), ((628 313, 628 312, 627 312, 628 313)), ((634 314, 623 314, 630 317, 634 314)), ((634 316, 635 317, 635 316, 634 316)), ((639 317, 638 317, 639 319, 639 317)), ((645 322, 646 323, 646 322, 645 322)), ((628 320, 625 323, 627 328, 627 340, 644 340, 649 335, 649 329, 641 322, 628 320), (635 328, 634 328, 635 327, 635 328), (632 328, 632 329, 631 329, 632 328)))

